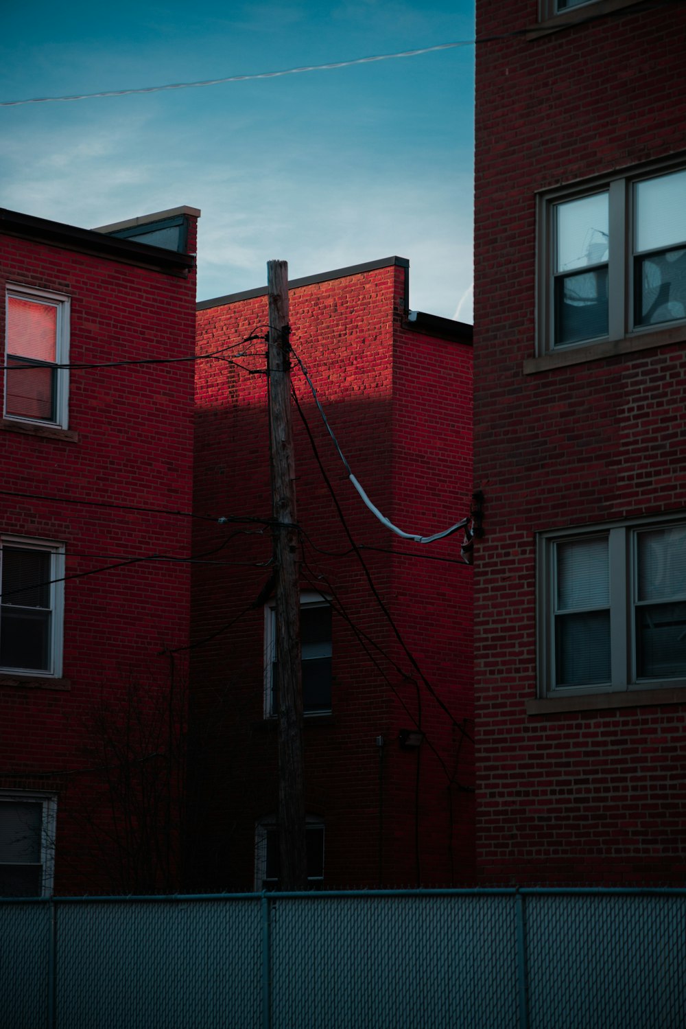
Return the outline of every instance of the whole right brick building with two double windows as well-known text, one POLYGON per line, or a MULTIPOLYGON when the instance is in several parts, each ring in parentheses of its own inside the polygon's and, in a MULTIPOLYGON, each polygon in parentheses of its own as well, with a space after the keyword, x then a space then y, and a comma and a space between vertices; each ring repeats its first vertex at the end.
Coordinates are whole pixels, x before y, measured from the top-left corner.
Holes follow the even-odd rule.
POLYGON ((686 872, 686 7, 477 2, 477 865, 686 872))

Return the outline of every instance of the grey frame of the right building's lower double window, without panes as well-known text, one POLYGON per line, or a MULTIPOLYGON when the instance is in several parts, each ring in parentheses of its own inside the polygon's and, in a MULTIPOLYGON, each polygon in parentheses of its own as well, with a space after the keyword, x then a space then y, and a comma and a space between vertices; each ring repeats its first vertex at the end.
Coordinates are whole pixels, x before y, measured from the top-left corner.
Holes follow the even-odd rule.
POLYGON ((647 529, 669 529, 686 526, 682 517, 665 514, 608 522, 594 526, 555 529, 537 534, 536 636, 538 663, 538 696, 541 699, 581 697, 599 694, 625 694, 637 690, 674 689, 686 687, 686 676, 672 678, 639 678, 636 674, 636 557, 637 532, 647 529), (608 538, 610 569, 610 651, 611 681, 602 684, 555 686, 554 653, 554 582, 555 544, 578 541, 580 538, 608 538))

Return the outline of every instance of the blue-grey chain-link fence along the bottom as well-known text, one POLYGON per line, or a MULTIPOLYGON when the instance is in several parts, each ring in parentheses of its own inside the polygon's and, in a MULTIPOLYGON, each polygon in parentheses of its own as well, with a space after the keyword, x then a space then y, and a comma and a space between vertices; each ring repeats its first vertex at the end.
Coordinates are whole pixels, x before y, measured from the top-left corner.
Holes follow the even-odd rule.
POLYGON ((686 890, 0 899, 0 1029, 671 1029, 686 890))

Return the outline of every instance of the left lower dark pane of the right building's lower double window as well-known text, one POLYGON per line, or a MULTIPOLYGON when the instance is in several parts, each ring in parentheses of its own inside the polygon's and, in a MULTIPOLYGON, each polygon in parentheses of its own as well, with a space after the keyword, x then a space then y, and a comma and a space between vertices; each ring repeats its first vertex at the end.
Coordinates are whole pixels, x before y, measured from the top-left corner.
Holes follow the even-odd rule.
POLYGON ((610 681, 610 612, 563 614, 555 618, 555 685, 610 681))

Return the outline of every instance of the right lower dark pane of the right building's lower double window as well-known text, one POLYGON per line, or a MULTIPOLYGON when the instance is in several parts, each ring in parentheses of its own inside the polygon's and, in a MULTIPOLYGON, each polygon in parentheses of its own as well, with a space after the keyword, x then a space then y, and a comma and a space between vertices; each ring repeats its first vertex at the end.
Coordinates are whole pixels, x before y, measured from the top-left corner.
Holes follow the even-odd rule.
POLYGON ((686 604, 637 608, 636 674, 642 679, 686 675, 686 604))

